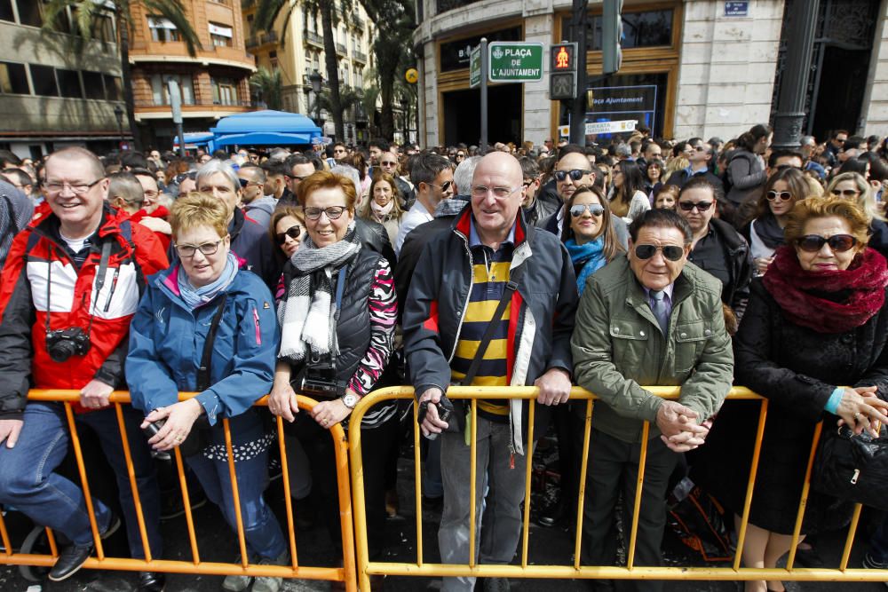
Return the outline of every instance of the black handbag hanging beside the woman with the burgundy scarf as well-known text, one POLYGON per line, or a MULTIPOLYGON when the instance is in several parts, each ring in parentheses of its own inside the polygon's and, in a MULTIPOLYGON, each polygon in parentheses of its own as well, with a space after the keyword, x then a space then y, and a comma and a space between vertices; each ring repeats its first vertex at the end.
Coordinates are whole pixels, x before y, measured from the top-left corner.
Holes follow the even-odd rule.
POLYGON ((811 487, 842 500, 888 510, 888 437, 846 425, 823 430, 811 476, 811 487))

